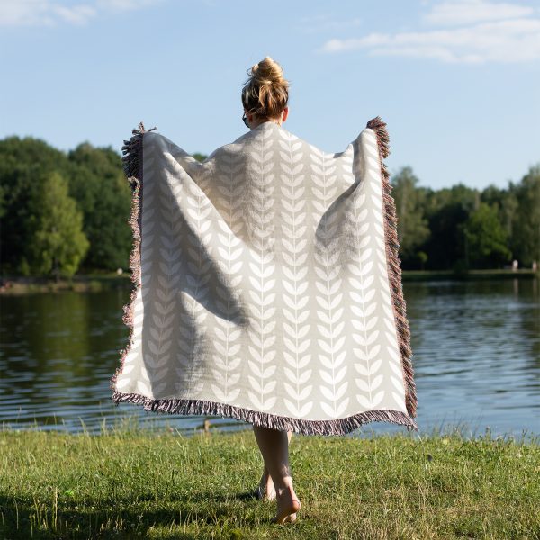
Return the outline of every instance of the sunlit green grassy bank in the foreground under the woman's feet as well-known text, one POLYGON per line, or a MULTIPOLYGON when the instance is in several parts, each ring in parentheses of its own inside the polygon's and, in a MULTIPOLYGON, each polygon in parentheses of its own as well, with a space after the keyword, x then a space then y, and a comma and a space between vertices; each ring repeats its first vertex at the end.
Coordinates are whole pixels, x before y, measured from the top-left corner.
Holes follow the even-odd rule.
POLYGON ((249 494, 251 430, 0 431, 3 538, 539 538, 540 437, 302 437, 298 521, 249 494))

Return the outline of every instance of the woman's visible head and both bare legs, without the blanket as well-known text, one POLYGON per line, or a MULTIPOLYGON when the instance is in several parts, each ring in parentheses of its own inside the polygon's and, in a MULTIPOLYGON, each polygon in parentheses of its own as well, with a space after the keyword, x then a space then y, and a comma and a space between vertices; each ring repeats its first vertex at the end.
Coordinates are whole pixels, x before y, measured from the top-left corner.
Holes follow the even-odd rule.
MULTIPOLYGON (((282 125, 289 114, 289 84, 284 79, 282 68, 272 58, 266 57, 251 67, 249 75, 242 89, 244 123, 251 130, 266 121, 282 125)), ((265 461, 257 496, 277 500, 275 523, 293 522, 301 508, 289 466, 289 443, 293 432, 256 425, 253 430, 265 461)))

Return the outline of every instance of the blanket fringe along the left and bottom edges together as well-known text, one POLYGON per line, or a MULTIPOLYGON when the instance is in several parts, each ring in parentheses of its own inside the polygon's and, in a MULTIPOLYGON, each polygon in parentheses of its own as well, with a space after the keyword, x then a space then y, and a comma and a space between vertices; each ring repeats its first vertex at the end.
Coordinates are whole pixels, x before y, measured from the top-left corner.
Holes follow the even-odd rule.
MULTIPOLYGON (((155 130, 152 128, 151 130, 155 130)), ((148 131, 151 131, 148 130, 148 131)), ((278 430, 288 430, 302 435, 346 435, 367 422, 386 421, 394 424, 406 426, 410 431, 419 430, 415 421, 409 414, 401 410, 367 410, 359 412, 345 419, 335 420, 304 420, 293 419, 284 416, 235 407, 227 403, 218 403, 215 401, 188 400, 188 399, 164 399, 155 400, 147 398, 138 393, 123 393, 116 390, 116 380, 121 374, 125 357, 128 355, 133 336, 133 303, 141 286, 140 283, 140 212, 142 208, 142 138, 146 132, 142 122, 139 123, 139 130, 133 130, 133 136, 130 140, 124 140, 122 157, 124 162, 124 172, 130 182, 133 191, 131 200, 130 225, 133 233, 133 248, 130 254, 131 281, 136 284, 135 289, 130 293, 130 302, 123 307, 123 322, 130 327, 130 338, 128 347, 121 350, 121 366, 111 378, 112 401, 118 406, 121 402, 134 403, 142 405, 147 412, 165 412, 178 415, 210 415, 221 416, 223 418, 232 418, 243 420, 264 428, 273 428, 278 430)))

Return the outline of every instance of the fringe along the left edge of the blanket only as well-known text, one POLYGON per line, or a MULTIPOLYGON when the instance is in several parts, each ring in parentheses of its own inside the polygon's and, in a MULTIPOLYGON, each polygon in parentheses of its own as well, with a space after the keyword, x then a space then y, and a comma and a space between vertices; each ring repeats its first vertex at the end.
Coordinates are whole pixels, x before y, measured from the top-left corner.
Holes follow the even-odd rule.
MULTIPOLYGON (((156 130, 152 128, 148 131, 156 130)), ((121 158, 123 161, 123 171, 130 183, 132 192, 131 196, 131 214, 128 222, 131 226, 131 232, 133 234, 133 245, 130 253, 130 280, 135 284, 135 287, 130 292, 130 301, 123 306, 123 315, 121 320, 126 326, 130 328, 130 337, 128 339, 128 346, 120 350, 121 360, 120 366, 116 369, 116 372, 112 375, 110 380, 110 387, 114 393, 116 390, 116 380, 123 370, 123 365, 126 356, 130 352, 131 344, 133 342, 133 311, 135 297, 140 288, 140 230, 141 230, 141 218, 142 212, 142 137, 147 131, 144 129, 144 124, 139 123, 138 130, 131 130, 133 134, 129 140, 124 140, 124 144, 121 147, 121 158)))

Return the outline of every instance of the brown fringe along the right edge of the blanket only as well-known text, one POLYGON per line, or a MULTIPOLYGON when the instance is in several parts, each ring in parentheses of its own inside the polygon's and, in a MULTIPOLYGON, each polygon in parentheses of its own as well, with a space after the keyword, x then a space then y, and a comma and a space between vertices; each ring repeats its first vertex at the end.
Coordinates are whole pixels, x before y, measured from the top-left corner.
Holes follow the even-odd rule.
MULTIPOLYGON (((407 320, 407 306, 403 298, 401 283, 401 259, 399 257, 400 243, 398 241, 398 217, 396 205, 392 197, 392 184, 389 182, 390 174, 383 159, 390 154, 388 131, 386 123, 380 116, 367 122, 366 128, 374 130, 379 147, 379 160, 381 163, 381 180, 383 183, 384 203, 384 238, 386 244, 386 259, 388 261, 388 278, 392 292, 393 311, 398 333, 398 344, 401 353, 401 367, 405 382, 405 405, 411 418, 417 416, 417 395, 414 382, 410 349, 410 328, 407 320)), ((418 430, 418 428, 417 428, 418 430)))

